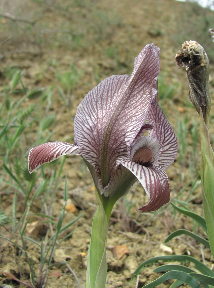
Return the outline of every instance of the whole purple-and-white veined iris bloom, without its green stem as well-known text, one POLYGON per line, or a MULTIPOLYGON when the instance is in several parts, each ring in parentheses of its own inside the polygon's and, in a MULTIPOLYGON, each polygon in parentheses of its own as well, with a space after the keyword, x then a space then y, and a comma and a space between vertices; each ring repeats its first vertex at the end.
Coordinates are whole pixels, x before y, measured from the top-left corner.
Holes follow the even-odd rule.
POLYGON ((149 200, 139 212, 166 204, 170 186, 165 169, 177 154, 177 139, 158 105, 159 65, 159 48, 148 44, 135 58, 131 76, 113 75, 94 87, 77 108, 74 144, 49 142, 31 149, 29 172, 78 154, 104 202, 114 204, 140 182, 149 200))

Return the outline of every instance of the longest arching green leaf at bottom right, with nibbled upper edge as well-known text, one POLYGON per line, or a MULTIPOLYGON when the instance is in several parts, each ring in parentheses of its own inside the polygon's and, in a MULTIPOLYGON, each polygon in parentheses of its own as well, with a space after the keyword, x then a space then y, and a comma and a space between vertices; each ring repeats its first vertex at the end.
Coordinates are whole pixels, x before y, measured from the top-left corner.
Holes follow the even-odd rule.
POLYGON ((161 262, 183 262, 183 263, 194 263, 195 268, 200 271, 202 274, 214 277, 214 272, 209 269, 206 265, 204 265, 202 262, 198 261, 194 257, 188 256, 188 255, 166 255, 166 256, 158 256, 150 258, 143 263, 141 263, 138 268, 135 270, 135 272, 132 275, 132 278, 137 276, 143 269, 146 267, 152 266, 154 264, 157 264, 159 261, 161 262))

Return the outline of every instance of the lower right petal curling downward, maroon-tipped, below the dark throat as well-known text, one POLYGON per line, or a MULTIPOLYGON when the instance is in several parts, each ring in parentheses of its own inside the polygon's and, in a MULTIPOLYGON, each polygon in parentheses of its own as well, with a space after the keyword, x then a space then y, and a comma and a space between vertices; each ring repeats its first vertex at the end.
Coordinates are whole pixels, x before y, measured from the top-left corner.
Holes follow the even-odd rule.
POLYGON ((144 167, 132 161, 126 161, 122 165, 137 177, 149 197, 149 201, 137 209, 138 212, 156 211, 169 202, 169 181, 161 166, 144 167))

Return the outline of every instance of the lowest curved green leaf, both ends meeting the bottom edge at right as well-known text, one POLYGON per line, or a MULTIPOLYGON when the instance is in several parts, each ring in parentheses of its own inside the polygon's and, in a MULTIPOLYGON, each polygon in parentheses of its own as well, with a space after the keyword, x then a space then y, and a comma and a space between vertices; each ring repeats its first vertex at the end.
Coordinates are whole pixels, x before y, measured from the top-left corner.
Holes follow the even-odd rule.
POLYGON ((143 288, 154 288, 157 287, 157 285, 162 284, 164 281, 167 281, 169 279, 178 279, 184 281, 184 283, 190 285, 192 288, 202 288, 202 286, 190 275, 185 272, 181 271, 168 271, 162 276, 160 276, 158 279, 152 281, 151 283, 143 286, 143 288))

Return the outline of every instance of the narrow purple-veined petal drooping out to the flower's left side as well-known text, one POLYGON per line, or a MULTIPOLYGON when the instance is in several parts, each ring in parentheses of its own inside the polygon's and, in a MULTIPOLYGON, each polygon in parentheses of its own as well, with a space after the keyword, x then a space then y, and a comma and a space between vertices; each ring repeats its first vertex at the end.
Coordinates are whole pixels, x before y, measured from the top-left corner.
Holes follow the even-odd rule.
POLYGON ((79 155, 79 147, 66 142, 48 142, 30 150, 28 170, 32 173, 42 164, 50 163, 63 155, 79 155))

